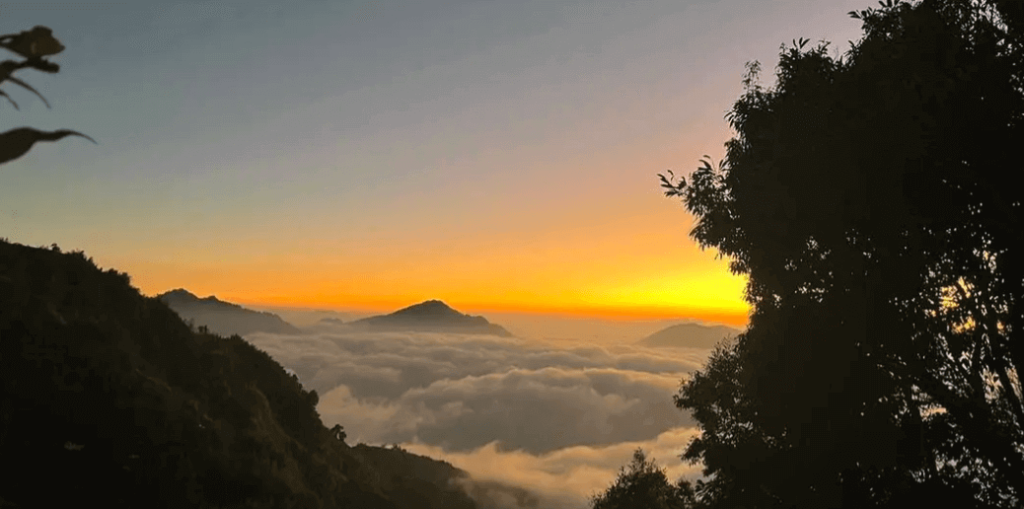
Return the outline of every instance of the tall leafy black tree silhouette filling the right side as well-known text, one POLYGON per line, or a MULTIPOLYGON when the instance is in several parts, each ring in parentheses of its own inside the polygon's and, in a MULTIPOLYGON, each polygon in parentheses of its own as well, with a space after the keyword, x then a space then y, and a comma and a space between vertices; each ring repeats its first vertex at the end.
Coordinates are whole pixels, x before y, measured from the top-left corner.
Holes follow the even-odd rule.
POLYGON ((1024 2, 887 0, 782 48, 717 168, 660 175, 746 273, 748 331, 676 396, 711 507, 1019 507, 1024 2))

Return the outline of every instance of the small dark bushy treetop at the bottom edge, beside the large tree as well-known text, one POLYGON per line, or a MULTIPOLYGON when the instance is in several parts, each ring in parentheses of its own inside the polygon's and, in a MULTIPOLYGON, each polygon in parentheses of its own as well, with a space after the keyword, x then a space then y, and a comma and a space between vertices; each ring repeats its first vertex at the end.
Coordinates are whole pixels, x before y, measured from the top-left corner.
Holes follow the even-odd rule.
POLYGON ((591 499, 592 509, 689 509, 694 504, 689 482, 669 483, 665 471, 654 460, 648 461, 642 449, 633 453, 629 469, 621 469, 614 483, 591 499))

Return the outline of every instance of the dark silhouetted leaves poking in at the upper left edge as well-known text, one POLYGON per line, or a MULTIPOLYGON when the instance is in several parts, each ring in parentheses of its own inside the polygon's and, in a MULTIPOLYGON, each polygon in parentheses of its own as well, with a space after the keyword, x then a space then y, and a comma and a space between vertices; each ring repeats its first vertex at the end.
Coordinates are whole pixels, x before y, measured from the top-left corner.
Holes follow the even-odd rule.
MULTIPOLYGON (((32 68, 51 74, 60 70, 59 66, 46 59, 46 56, 59 53, 65 49, 63 45, 53 37, 53 32, 46 27, 35 27, 32 30, 18 34, 3 35, 0 36, 0 47, 25 57, 25 60, 20 62, 13 60, 0 62, 0 84, 9 81, 19 85, 39 96, 43 100, 43 103, 46 104, 46 108, 49 108, 50 103, 47 102, 46 97, 43 97, 42 94, 28 83, 11 75, 15 71, 25 68, 32 68)), ((18 109, 17 102, 14 102, 14 99, 7 92, 0 90, 0 96, 6 98, 15 110, 18 109)), ((32 145, 39 141, 55 141, 67 136, 81 136, 93 143, 96 142, 96 140, 89 136, 70 129, 46 132, 32 127, 18 127, 0 133, 0 164, 25 156, 32 149, 32 145)))

